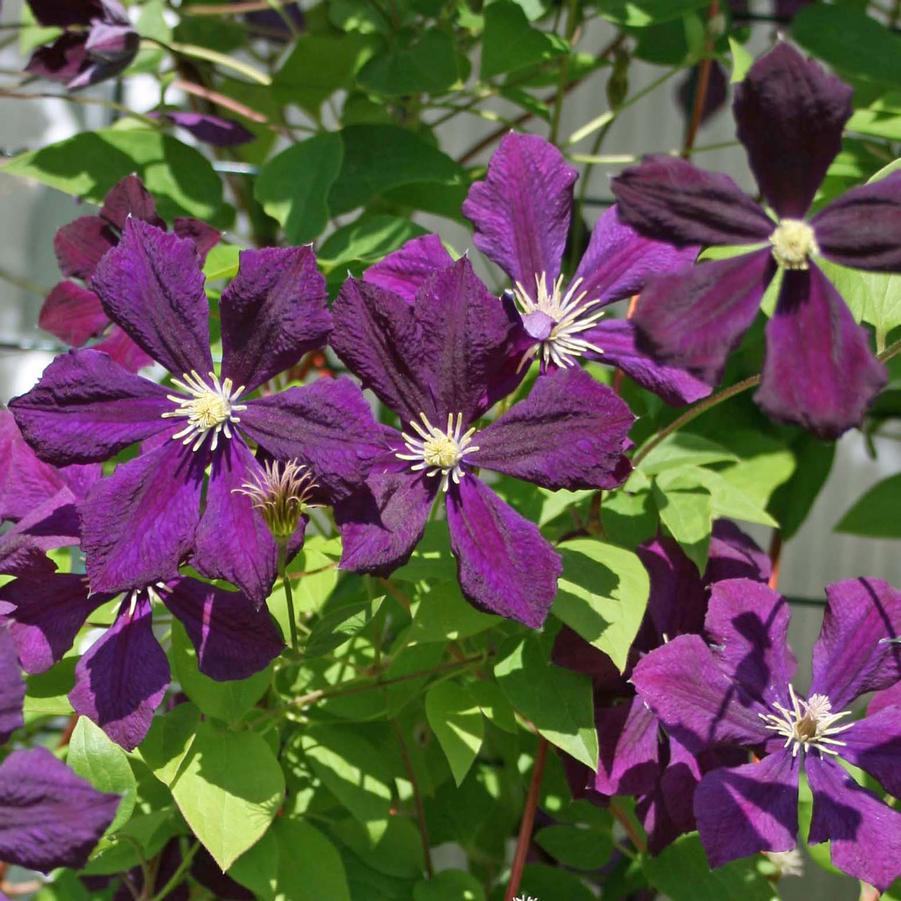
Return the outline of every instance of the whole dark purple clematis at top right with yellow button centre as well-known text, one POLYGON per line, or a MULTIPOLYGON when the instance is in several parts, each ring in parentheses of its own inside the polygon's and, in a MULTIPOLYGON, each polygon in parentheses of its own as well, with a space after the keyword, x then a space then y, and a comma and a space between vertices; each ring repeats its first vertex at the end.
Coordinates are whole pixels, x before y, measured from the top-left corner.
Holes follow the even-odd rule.
POLYGON ((738 138, 778 222, 725 175, 686 160, 648 157, 613 181, 620 216, 676 245, 759 245, 748 253, 661 278, 635 321, 662 359, 716 384, 730 351, 782 270, 756 400, 774 419, 835 437, 860 423, 886 383, 864 328, 813 261, 901 271, 901 174, 808 210, 841 147, 851 89, 786 43, 736 86, 738 138))

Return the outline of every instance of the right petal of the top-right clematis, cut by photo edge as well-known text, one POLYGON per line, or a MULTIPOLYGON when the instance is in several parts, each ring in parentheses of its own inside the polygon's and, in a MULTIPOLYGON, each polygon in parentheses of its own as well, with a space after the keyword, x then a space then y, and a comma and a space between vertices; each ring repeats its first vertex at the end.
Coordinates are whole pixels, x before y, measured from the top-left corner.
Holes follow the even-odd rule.
POLYGON ((846 191, 811 225, 830 260, 852 269, 901 271, 901 172, 846 191))

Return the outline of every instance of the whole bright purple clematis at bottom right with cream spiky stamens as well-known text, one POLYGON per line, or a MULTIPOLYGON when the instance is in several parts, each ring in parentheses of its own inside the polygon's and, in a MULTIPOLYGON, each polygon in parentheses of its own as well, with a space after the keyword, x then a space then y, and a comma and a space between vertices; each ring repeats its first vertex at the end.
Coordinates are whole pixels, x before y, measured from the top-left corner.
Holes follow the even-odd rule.
POLYGON ((858 766, 901 794, 901 708, 860 720, 850 706, 901 679, 901 592, 876 579, 826 589, 810 692, 791 684, 785 599, 732 579, 713 586, 705 628, 645 657, 638 694, 671 738, 695 753, 752 749, 760 759, 708 773, 695 792, 701 841, 714 867, 759 851, 788 851, 798 832, 798 779, 813 792, 808 841, 831 841, 832 862, 885 890, 901 875, 901 813, 861 788, 839 765, 858 766))

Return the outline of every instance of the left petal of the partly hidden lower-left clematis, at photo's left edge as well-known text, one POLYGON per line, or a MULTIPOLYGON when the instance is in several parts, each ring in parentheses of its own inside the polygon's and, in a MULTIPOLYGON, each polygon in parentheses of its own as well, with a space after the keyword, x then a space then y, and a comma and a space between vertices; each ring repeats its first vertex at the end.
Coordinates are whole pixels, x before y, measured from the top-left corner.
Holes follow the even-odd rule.
POLYGON ((78 630, 109 595, 90 594, 74 573, 21 578, 0 586, 0 616, 9 622, 22 668, 42 673, 62 659, 78 630))

